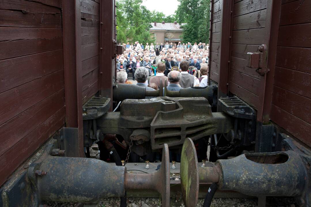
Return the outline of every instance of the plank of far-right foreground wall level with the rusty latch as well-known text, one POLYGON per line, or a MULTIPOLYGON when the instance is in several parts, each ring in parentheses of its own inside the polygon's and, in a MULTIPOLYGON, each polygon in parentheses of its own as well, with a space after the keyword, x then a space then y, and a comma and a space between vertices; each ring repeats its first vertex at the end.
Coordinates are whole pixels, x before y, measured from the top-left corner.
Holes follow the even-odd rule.
POLYGON ((311 48, 277 47, 276 66, 311 73, 311 48))

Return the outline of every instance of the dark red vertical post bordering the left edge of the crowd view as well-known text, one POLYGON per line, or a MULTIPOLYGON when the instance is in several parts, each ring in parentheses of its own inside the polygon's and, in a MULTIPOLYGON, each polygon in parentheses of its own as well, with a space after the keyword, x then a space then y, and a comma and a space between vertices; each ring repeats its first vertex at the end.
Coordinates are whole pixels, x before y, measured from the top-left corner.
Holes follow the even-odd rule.
POLYGON ((100 95, 108 96, 112 110, 114 0, 100 0, 100 95))

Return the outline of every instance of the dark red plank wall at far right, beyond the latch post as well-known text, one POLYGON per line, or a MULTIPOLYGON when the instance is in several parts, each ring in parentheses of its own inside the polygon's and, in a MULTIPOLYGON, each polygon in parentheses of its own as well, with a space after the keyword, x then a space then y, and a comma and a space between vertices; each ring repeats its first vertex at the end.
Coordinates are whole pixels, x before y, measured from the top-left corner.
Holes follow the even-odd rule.
POLYGON ((270 118, 311 146, 311 0, 282 0, 270 118))

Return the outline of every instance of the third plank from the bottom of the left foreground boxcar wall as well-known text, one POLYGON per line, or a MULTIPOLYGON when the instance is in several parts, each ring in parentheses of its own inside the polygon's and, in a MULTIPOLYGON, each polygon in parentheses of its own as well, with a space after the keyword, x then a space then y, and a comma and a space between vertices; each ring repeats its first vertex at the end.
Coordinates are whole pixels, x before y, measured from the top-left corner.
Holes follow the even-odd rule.
POLYGON ((0 93, 0 100, 5 100, 0 108, 0 125, 62 88, 63 69, 0 93))

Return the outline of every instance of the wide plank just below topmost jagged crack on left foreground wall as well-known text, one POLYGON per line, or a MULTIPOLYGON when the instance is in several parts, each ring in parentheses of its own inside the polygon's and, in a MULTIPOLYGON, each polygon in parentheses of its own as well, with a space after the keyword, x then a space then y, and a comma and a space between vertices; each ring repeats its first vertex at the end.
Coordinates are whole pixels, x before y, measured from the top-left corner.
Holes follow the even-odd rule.
POLYGON ((23 13, 22 11, 1 10, 1 27, 44 27, 62 28, 61 14, 23 13))

